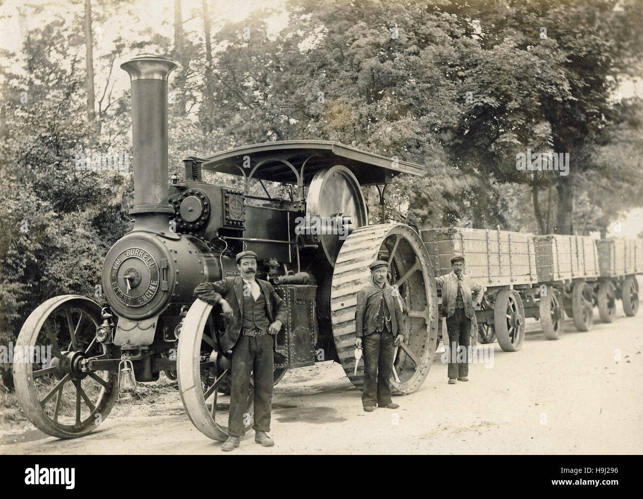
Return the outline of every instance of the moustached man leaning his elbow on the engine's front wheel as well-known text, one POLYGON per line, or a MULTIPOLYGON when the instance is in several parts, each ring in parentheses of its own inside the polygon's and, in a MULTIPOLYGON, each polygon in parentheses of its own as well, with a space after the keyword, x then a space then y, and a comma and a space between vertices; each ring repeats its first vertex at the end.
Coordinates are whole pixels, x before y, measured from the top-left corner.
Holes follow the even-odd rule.
POLYGON ((275 335, 286 322, 287 307, 272 284, 255 278, 257 254, 242 251, 237 255, 240 276, 217 282, 204 282, 194 289, 198 298, 220 304, 226 324, 221 349, 232 350, 230 372, 230 436, 221 447, 239 447, 245 433, 244 413, 248 410, 250 374, 255 380, 255 442, 264 447, 275 445, 266 435, 270 431, 273 400, 275 335))

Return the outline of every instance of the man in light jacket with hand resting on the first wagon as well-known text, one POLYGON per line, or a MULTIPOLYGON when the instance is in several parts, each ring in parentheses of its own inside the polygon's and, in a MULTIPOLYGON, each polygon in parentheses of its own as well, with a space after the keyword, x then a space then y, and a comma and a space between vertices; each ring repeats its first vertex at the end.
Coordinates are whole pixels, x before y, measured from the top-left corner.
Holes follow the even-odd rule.
POLYGON ((484 288, 464 274, 464 254, 455 253, 451 266, 451 273, 435 278, 436 284, 442 287, 442 313, 446 315, 449 335, 449 385, 453 385, 456 378, 469 381, 471 319, 484 296, 484 288))

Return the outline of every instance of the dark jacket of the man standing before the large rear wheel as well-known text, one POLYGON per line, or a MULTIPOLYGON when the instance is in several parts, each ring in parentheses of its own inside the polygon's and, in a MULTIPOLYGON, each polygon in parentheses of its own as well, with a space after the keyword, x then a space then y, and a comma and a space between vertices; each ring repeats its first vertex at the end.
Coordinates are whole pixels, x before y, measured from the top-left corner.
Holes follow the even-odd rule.
POLYGON ((382 302, 382 293, 384 293, 386 306, 391 312, 393 336, 397 336, 397 332, 403 324, 403 314, 399 300, 394 298, 393 288, 388 282, 385 282, 384 287, 381 288, 371 281, 358 291, 358 304, 355 309, 355 333, 358 338, 367 336, 367 334, 375 331, 376 317, 382 302))

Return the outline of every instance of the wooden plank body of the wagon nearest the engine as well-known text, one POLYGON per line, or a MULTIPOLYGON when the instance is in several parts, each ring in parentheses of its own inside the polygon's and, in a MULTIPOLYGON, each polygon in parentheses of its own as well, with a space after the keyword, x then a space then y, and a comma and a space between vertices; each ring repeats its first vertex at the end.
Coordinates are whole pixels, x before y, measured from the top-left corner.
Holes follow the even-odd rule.
POLYGON ((464 253, 466 273, 487 287, 536 284, 536 249, 530 233, 469 228, 421 230, 436 276, 451 272, 464 253))

